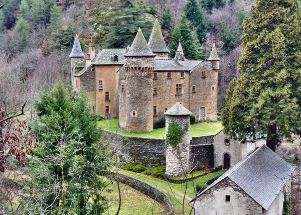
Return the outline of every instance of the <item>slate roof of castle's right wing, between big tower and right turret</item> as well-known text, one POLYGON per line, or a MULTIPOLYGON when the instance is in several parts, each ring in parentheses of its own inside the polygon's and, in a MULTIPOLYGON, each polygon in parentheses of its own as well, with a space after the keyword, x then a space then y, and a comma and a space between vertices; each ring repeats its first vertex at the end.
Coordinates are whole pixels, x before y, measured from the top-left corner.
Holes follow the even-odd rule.
POLYGON ((201 62, 201 60, 185 59, 184 63, 180 64, 175 59, 155 59, 154 71, 191 71, 201 62))

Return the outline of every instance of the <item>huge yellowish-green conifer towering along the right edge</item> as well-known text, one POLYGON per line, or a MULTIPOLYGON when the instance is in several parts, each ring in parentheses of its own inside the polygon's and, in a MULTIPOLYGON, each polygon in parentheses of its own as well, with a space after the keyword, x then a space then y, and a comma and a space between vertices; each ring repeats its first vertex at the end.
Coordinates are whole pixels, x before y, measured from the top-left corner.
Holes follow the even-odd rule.
POLYGON ((283 137, 300 135, 300 4, 257 0, 243 28, 241 77, 227 91, 224 132, 241 141, 266 136, 275 151, 283 137))

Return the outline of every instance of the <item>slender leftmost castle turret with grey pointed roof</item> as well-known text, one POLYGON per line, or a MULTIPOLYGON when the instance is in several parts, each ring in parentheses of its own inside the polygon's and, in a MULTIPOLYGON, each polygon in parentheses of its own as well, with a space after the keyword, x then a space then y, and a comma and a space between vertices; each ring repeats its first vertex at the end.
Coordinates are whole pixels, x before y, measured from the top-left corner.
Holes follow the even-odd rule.
POLYGON ((74 83, 74 74, 76 72, 78 72, 77 68, 78 68, 78 70, 81 70, 84 67, 84 66, 78 67, 77 65, 85 64, 85 62, 84 62, 85 55, 81 49, 77 35, 75 36, 73 48, 72 48, 72 51, 71 51, 71 54, 69 55, 69 57, 71 60, 71 84, 72 84, 72 86, 76 87, 76 84, 74 83))

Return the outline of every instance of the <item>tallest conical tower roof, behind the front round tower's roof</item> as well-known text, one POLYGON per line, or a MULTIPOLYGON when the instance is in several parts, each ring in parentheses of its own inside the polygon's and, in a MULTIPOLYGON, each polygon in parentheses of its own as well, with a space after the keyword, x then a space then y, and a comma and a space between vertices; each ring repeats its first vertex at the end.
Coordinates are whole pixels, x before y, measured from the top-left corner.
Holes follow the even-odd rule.
POLYGON ((155 21, 152 34, 150 34, 148 40, 148 46, 152 50, 152 52, 161 52, 161 53, 169 52, 169 50, 166 47, 158 20, 155 21))

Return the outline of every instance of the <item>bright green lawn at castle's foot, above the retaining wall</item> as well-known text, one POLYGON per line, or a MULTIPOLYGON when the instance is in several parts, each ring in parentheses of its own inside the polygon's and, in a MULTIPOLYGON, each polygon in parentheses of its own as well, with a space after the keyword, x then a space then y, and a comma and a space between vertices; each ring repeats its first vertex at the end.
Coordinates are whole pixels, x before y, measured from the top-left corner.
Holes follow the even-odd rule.
MULTIPOLYGON (((165 138, 165 128, 154 129, 152 132, 144 133, 129 133, 119 129, 118 119, 113 120, 102 120, 98 122, 98 127, 104 130, 116 132, 127 137, 143 137, 143 138, 154 138, 154 139, 164 139, 165 138)), ((190 125, 190 138, 199 137, 205 135, 214 135, 223 130, 221 122, 202 122, 195 125, 190 125)))

